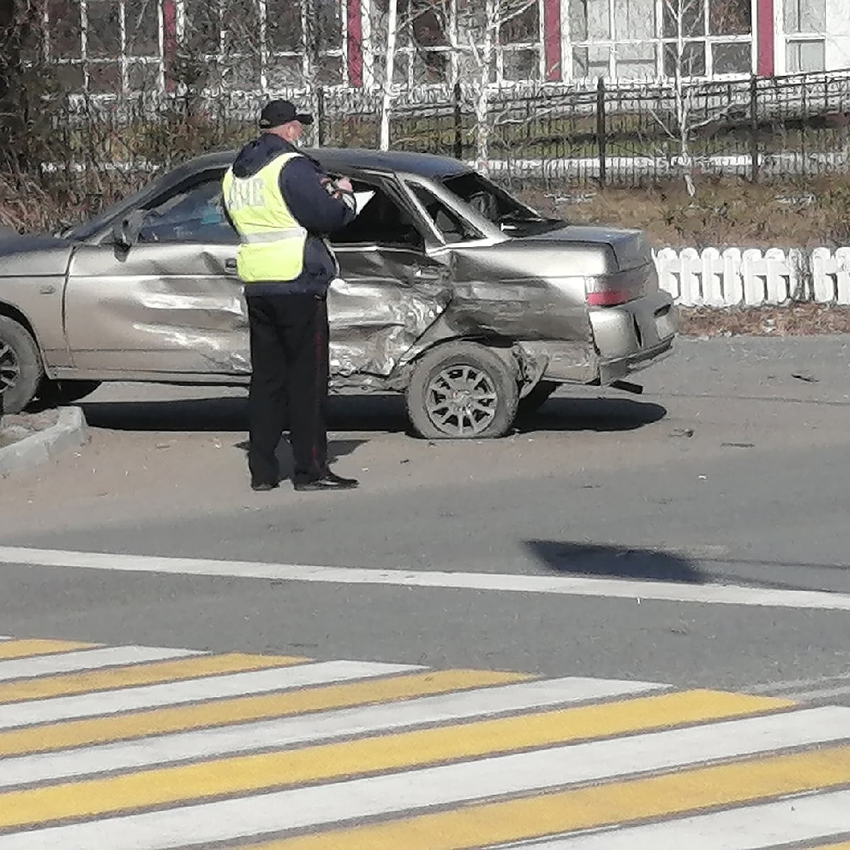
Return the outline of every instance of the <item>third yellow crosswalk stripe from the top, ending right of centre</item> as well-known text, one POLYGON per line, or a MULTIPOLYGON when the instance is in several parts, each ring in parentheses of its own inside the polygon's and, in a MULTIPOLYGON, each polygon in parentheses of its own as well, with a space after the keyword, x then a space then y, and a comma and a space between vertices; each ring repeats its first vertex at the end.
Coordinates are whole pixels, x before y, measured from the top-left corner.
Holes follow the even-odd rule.
POLYGON ((486 670, 428 671, 368 682, 310 687, 282 694, 235 697, 194 706, 133 711, 118 717, 65 721, 0 732, 0 757, 292 717, 310 711, 408 700, 529 679, 529 676, 520 673, 486 670))

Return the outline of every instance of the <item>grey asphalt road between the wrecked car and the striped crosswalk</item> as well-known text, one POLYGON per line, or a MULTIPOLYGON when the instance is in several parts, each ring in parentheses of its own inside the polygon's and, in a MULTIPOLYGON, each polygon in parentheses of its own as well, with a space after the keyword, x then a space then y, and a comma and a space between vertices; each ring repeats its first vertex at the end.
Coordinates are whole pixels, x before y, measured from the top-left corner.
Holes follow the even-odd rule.
POLYGON ((0 553, 0 633, 850 701, 850 614, 801 594, 850 594, 848 370, 847 337, 683 340, 643 396, 564 393, 470 443, 412 439, 399 399, 335 399, 350 494, 252 494, 240 393, 101 388, 90 445, 0 482, 0 545, 148 560, 0 553), (163 575, 180 557, 196 574, 163 575), (211 576, 204 559, 416 578, 211 576), (477 578, 416 586, 432 572, 477 578), (707 599, 718 584, 735 601, 707 599))

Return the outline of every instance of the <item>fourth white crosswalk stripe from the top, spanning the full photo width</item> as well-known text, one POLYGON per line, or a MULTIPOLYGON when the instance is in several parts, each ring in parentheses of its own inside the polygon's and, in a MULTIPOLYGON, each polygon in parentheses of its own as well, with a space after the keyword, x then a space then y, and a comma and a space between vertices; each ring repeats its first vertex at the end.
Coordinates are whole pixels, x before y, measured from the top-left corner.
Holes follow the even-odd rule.
POLYGON ((0 850, 165 850, 841 740, 850 708, 673 729, 0 836, 0 850))

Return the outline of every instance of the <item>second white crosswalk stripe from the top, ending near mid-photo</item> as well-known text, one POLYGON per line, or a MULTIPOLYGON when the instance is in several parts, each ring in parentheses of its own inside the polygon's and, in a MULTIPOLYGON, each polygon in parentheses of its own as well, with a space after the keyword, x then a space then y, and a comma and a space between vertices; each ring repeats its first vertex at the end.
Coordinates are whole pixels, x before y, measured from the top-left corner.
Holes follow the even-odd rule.
POLYGON ((115 714, 118 711, 137 711, 141 708, 177 706, 221 697, 263 694, 275 690, 303 688, 306 685, 346 682, 351 679, 388 676, 422 669, 419 666, 402 664, 325 661, 320 664, 299 664, 280 669, 230 673, 226 676, 185 679, 182 682, 99 691, 50 700, 28 700, 0 705, 0 729, 115 714))

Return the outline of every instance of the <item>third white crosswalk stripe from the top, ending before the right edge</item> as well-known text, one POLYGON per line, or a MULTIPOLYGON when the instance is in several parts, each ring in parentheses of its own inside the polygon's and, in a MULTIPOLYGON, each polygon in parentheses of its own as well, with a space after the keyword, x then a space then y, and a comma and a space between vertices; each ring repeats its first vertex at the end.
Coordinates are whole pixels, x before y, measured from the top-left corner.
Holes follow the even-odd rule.
POLYGON ((303 717, 244 723, 65 752, 5 758, 0 787, 50 779, 196 761, 229 753, 316 743, 403 728, 456 723, 514 711, 625 697, 664 688, 643 682, 564 678, 439 694, 378 706, 320 711, 303 717))

